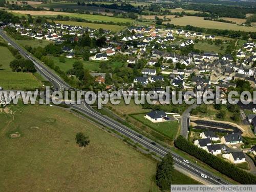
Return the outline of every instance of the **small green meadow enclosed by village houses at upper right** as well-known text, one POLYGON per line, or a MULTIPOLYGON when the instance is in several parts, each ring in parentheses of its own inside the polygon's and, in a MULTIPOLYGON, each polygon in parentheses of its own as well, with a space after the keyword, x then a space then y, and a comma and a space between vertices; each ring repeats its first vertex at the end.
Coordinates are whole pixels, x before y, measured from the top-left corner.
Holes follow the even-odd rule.
POLYGON ((204 52, 214 52, 214 53, 224 54, 227 48, 227 44, 223 43, 222 46, 224 46, 224 48, 221 50, 220 49, 221 45, 218 46, 218 45, 215 45, 214 43, 208 44, 207 41, 199 41, 198 43, 195 43, 194 48, 204 52))

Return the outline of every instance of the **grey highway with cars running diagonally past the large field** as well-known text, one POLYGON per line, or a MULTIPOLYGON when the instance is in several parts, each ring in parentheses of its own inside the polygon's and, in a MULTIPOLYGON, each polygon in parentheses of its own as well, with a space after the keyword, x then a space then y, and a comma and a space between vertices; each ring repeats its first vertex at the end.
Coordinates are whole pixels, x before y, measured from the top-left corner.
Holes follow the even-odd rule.
MULTIPOLYGON (((44 76, 47 80, 49 80, 56 89, 60 90, 63 88, 72 88, 69 86, 65 81, 63 81, 60 77, 58 77, 51 69, 49 69, 47 66, 45 66, 43 63, 37 61, 32 55, 29 55, 26 53, 22 47, 20 47, 16 42, 14 42, 9 36, 7 36, 2 30, 0 30, 0 35, 2 38, 4 38, 8 43, 10 43, 15 49, 19 51, 19 53, 25 57, 26 59, 30 59, 35 64, 35 67, 38 72, 42 76, 44 76)), ((197 164, 189 162, 184 162, 184 158, 179 156, 178 154, 170 151, 169 149, 166 149, 159 145, 159 143, 155 143, 155 145, 152 144, 154 142, 153 140, 144 137, 139 136, 140 134, 135 132, 134 130, 114 121, 108 116, 102 115, 99 112, 96 112, 94 109, 92 109, 91 106, 88 104, 82 102, 81 105, 70 105, 71 108, 78 110, 79 112, 93 118, 98 123, 105 125, 111 129, 115 129, 119 133, 125 135, 126 137, 131 138, 134 142, 138 142, 143 147, 155 152, 157 155, 164 157, 168 152, 170 152, 173 157, 176 165, 181 167, 186 172, 189 172, 190 174, 193 174, 196 177, 199 177, 202 179, 201 174, 204 174, 207 176, 205 179, 210 184, 230 184, 227 181, 224 181, 223 179, 219 180, 218 177, 213 175, 212 173, 206 171, 205 169, 202 169, 197 164)))

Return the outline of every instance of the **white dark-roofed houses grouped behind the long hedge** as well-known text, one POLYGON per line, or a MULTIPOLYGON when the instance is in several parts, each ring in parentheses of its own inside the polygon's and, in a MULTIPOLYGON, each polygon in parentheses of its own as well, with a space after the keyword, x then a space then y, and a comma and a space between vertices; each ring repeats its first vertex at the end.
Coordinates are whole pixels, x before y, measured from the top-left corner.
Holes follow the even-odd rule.
POLYGON ((213 131, 203 131, 200 133, 201 139, 194 141, 194 144, 212 155, 221 155, 232 163, 246 162, 242 151, 231 149, 233 146, 243 143, 242 135, 239 132, 232 132, 221 138, 213 131), (219 141, 219 143, 217 143, 219 141), (230 147, 228 147, 230 146, 230 147), (232 151, 232 152, 231 152, 232 151))

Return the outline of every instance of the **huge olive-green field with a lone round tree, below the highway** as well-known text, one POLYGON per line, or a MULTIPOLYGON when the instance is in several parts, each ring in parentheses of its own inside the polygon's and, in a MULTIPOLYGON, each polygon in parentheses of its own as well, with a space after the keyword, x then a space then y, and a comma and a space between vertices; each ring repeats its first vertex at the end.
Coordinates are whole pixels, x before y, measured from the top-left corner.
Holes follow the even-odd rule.
MULTIPOLYGON (((45 105, 0 110, 0 191, 160 191, 155 161, 88 121, 45 105), (76 145, 77 132, 89 146, 76 145)), ((173 177, 198 184, 178 171, 173 177)))

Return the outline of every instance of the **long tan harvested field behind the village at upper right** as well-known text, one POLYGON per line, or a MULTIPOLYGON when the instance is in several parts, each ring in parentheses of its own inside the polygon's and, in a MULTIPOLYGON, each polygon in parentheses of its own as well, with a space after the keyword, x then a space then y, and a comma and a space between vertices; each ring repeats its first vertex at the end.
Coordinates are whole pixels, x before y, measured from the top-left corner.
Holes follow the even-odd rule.
POLYGON ((209 28, 209 29, 222 29, 222 30, 235 30, 235 31, 246 31, 246 32, 256 32, 256 28, 253 27, 245 27, 238 26, 232 23, 204 20, 203 17, 194 17, 194 16, 183 16, 179 18, 173 18, 172 21, 165 21, 164 23, 172 23, 174 25, 186 26, 191 25, 195 27, 201 28, 209 28))

